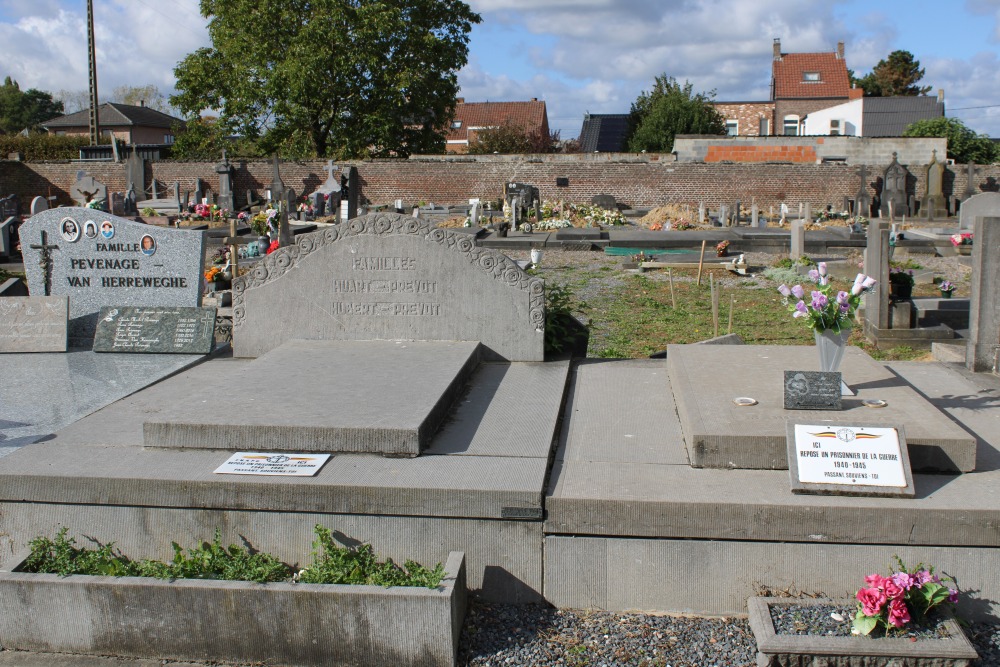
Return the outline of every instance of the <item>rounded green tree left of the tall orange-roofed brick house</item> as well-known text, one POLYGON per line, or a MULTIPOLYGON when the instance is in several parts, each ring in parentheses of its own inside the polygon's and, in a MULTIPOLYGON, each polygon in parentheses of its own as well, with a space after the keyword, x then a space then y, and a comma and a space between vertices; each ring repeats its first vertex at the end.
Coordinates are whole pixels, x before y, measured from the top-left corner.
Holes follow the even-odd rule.
POLYGON ((695 93, 690 82, 680 85, 661 74, 653 90, 632 103, 628 149, 634 153, 669 153, 678 134, 725 134, 726 119, 712 106, 715 91, 695 93))

